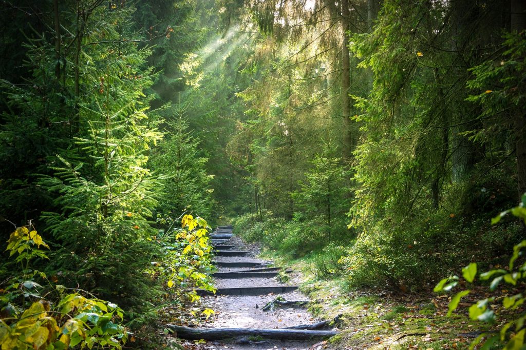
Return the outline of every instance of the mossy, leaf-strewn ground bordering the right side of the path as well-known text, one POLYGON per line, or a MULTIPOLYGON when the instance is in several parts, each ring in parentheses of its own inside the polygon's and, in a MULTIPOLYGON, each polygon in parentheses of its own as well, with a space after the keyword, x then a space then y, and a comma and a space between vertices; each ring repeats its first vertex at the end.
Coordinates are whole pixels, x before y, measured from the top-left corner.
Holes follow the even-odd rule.
POLYGON ((489 329, 469 319, 466 305, 464 311, 447 316, 451 295, 349 290, 345 278, 317 279, 309 271, 308 257, 287 260, 274 252, 264 256, 302 273, 300 289, 312 300, 313 314, 323 319, 343 314, 341 334, 329 341, 335 349, 463 349, 489 329))

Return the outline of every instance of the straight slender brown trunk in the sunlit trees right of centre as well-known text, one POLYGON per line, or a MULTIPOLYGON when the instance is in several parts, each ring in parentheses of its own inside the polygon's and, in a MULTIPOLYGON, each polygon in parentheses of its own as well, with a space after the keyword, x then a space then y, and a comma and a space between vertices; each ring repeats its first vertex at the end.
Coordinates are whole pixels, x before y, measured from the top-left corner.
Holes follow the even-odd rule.
POLYGON ((349 0, 341 2, 341 115, 343 119, 343 160, 349 161, 352 152, 351 104, 350 89, 350 57, 349 57, 349 0))

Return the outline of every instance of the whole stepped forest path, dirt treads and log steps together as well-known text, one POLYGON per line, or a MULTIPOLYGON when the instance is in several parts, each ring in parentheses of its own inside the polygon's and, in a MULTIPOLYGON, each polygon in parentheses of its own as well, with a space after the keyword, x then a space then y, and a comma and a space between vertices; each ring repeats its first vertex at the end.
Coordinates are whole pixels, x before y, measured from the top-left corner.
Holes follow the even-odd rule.
POLYGON ((333 326, 318 323, 307 311, 305 295, 297 290, 288 278, 292 271, 270 267, 272 261, 255 257, 256 251, 232 235, 231 226, 220 226, 211 235, 216 250, 214 274, 216 294, 198 291, 203 295, 203 304, 215 311, 211 320, 199 330, 190 328, 175 329, 178 337, 188 339, 207 338, 200 349, 233 350, 307 350, 327 349, 323 341, 336 332, 329 331, 333 326), (250 248, 250 247, 248 247, 250 248), (284 281, 286 280, 286 281, 284 281), (286 301, 300 301, 298 304, 277 305, 271 310, 263 310, 265 305, 277 298, 286 301), (300 305, 302 304, 302 305, 300 305), (313 330, 305 330, 308 325, 317 324, 313 330), (298 327, 297 330, 286 329, 298 327), (185 333, 185 332, 189 333, 185 333), (196 332, 203 332, 196 334, 196 332), (209 334, 209 333, 214 334, 209 334), (300 340, 303 338, 303 340, 300 340))

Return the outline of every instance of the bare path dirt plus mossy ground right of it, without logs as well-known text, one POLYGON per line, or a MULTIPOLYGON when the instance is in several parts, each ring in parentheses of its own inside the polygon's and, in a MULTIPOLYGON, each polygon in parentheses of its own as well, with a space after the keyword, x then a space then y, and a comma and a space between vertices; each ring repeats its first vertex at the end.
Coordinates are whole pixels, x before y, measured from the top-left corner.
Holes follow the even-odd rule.
MULTIPOLYGON (((205 296, 203 306, 213 309, 215 315, 201 327, 285 328, 332 320, 343 314, 337 324, 324 328, 340 333, 328 340, 313 341, 276 341, 261 337, 187 341, 187 349, 461 349, 468 348, 471 341, 487 329, 480 322, 470 321, 465 314, 447 317, 449 295, 349 291, 342 279, 316 279, 308 272, 303 260, 287 261, 269 254, 264 254, 267 260, 260 259, 256 257, 260 252, 259 247, 247 245, 238 237, 232 237, 224 244, 235 247, 231 250, 248 250, 250 253, 247 256, 218 256, 216 261, 257 262, 261 266, 284 267, 288 273, 281 272, 276 277, 269 278, 218 278, 216 288, 297 285, 299 289, 288 293, 205 296), (278 295, 286 300, 309 301, 308 309, 277 307, 272 311, 262 311, 262 307, 275 300, 278 295)), ((241 270, 251 269, 219 267, 218 272, 232 273, 241 270)), ((464 302, 460 306, 468 305, 464 302)))

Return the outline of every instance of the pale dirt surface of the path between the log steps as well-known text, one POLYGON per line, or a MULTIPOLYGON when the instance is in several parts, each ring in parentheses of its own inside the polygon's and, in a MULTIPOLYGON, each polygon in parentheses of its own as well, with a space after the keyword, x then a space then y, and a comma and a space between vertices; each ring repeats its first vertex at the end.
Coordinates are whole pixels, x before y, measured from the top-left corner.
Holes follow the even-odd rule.
MULTIPOLYGON (((231 234, 230 227, 216 229, 215 234, 231 234)), ((222 237, 222 236, 221 236, 222 237)), ((214 236, 213 236, 214 238, 214 236)), ((279 293, 279 288, 294 289, 291 282, 282 282, 279 279, 279 270, 269 268, 272 261, 265 261, 255 257, 257 251, 232 253, 244 251, 249 248, 238 237, 231 237, 226 241, 218 242, 216 250, 229 251, 226 254, 239 254, 239 256, 221 256, 218 253, 215 261, 218 263, 218 276, 216 288, 218 294, 225 292, 227 295, 206 295, 203 304, 215 311, 215 315, 204 328, 250 328, 251 330, 280 329, 297 325, 311 325, 321 320, 315 319, 305 306, 298 305, 276 306, 264 311, 267 303, 284 298, 286 301, 308 301, 306 296, 298 290, 279 293), (231 263, 254 263, 254 267, 230 267, 231 263), (228 266, 221 266, 226 263, 228 266), (254 271, 254 272, 252 272, 254 271), (239 278, 239 275, 250 272, 248 277, 239 278), (258 288, 261 287, 261 288, 258 288), (276 291, 275 291, 276 289, 276 291), (293 306, 293 307, 290 307, 293 306)), ((291 272, 291 271, 288 271, 291 272)), ((286 272, 282 272, 286 273, 286 272)), ((320 329, 331 330, 331 326, 320 329)), ((233 349, 233 350, 307 350, 327 349, 327 341, 323 338, 312 338, 308 341, 275 340, 260 336, 238 336, 227 340, 209 340, 199 346, 203 350, 233 349)))

